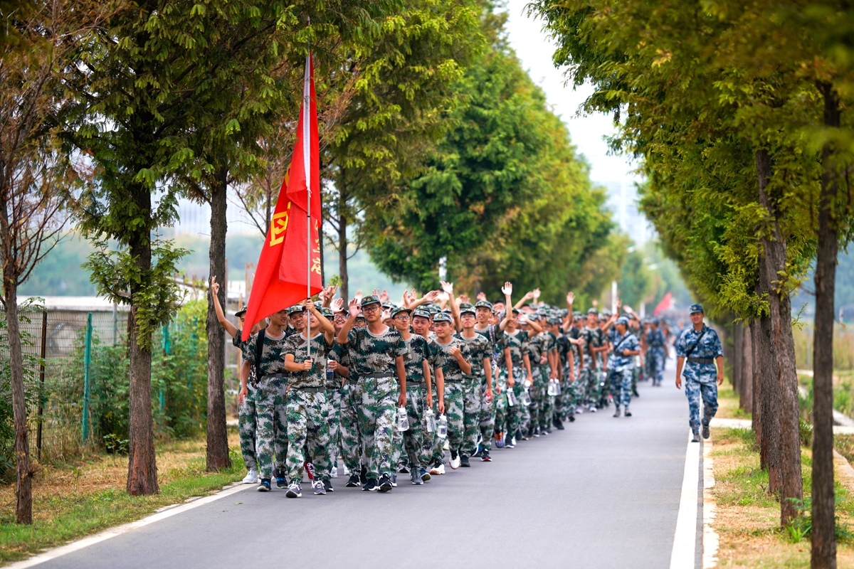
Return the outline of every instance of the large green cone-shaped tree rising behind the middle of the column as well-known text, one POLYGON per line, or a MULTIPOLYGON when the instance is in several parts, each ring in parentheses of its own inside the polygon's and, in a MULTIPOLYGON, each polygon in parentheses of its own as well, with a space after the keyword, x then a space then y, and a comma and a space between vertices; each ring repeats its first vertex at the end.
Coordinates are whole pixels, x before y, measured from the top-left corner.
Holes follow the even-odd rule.
POLYGON ((490 49, 454 85, 464 104, 425 171, 399 186, 394 207, 367 212, 369 251, 389 276, 420 289, 438 286, 438 259, 447 257, 464 286, 497 291, 512 280, 558 302, 610 222, 503 24, 484 16, 490 49))

